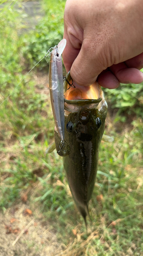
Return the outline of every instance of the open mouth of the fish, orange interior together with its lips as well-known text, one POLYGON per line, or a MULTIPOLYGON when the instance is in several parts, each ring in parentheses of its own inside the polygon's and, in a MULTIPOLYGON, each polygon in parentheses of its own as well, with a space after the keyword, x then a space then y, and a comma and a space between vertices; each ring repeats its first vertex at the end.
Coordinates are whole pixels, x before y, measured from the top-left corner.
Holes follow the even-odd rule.
POLYGON ((91 86, 79 86, 72 80, 70 72, 66 78, 70 84, 74 84, 75 88, 69 86, 67 81, 64 82, 65 110, 77 112, 81 108, 93 109, 105 101, 103 91, 97 81, 91 86))

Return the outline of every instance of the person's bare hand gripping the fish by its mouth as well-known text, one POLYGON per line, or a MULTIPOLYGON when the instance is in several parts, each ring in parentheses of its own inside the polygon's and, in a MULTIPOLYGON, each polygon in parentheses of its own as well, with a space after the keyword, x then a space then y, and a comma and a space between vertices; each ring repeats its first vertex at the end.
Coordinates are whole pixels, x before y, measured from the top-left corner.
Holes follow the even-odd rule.
POLYGON ((63 61, 80 86, 113 89, 143 74, 142 0, 67 0, 63 61))

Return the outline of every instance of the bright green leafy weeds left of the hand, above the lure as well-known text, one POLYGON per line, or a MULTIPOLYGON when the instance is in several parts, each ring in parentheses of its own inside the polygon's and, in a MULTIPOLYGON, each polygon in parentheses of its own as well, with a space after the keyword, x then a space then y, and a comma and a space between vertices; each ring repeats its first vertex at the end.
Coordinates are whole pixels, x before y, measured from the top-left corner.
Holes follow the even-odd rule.
MULTIPOLYGON (((51 47, 58 45, 63 38, 64 33, 64 7, 66 1, 54 0, 43 1, 45 15, 40 20, 34 31, 30 35, 23 37, 23 56, 28 65, 35 65, 39 59, 43 58, 45 53, 51 47), (56 8, 55 8, 56 7, 56 8)), ((38 65, 39 69, 47 67, 46 62, 38 65)))

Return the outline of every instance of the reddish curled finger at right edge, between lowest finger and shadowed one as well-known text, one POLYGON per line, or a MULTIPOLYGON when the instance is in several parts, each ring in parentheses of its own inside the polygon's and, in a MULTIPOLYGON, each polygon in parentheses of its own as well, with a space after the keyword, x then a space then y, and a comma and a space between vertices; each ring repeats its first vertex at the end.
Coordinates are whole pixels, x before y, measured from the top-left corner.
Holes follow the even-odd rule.
POLYGON ((122 83, 141 83, 143 81, 143 74, 135 68, 127 68, 124 62, 112 65, 110 71, 122 83))

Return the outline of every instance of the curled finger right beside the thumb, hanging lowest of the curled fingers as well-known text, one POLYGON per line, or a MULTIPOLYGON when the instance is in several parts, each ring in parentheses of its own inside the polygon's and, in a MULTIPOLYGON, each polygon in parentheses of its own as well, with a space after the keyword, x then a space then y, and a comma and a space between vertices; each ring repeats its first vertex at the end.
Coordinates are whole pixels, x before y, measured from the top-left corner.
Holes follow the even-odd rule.
POLYGON ((98 76, 100 86, 108 89, 115 89, 120 86, 119 80, 108 69, 98 76))

